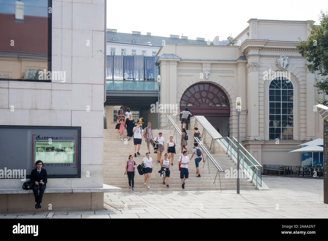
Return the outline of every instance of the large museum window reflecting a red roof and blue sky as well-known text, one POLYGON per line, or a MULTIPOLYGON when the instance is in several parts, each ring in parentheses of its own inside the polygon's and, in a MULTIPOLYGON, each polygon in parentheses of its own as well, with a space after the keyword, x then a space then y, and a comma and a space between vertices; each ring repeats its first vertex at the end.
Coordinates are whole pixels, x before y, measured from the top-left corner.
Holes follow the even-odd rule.
POLYGON ((0 1, 0 69, 10 60, 10 76, 3 73, 0 79, 51 82, 35 75, 36 70, 51 71, 50 7, 51 1, 0 1), (35 69, 27 70, 24 66, 35 69))

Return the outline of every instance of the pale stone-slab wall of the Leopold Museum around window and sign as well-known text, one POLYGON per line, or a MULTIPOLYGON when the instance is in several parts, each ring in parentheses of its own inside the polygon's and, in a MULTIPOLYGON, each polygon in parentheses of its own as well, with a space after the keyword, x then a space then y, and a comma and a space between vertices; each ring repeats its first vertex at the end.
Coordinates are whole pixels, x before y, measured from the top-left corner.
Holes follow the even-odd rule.
POLYGON ((47 188, 103 187, 105 1, 83 2, 52 1, 51 69, 66 71, 65 83, 0 81, 0 125, 81 126, 81 178, 49 178, 47 188))

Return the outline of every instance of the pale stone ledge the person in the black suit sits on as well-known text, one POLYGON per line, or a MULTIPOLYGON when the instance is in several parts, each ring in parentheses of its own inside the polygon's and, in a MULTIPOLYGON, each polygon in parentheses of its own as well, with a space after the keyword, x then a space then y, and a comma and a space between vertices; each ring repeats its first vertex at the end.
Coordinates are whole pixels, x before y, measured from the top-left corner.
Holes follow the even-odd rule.
MULTIPOLYGON (((102 188, 46 188, 44 193, 72 193, 72 192, 121 192, 121 188, 104 184, 102 188)), ((33 190, 0 189, 0 194, 32 194, 33 190)))

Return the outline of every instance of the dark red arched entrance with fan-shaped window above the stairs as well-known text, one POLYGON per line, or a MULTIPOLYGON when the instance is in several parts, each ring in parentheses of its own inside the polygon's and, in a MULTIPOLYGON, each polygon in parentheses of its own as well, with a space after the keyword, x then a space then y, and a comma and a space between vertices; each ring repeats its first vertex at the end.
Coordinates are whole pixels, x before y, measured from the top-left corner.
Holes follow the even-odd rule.
POLYGON ((193 115, 205 116, 222 136, 229 135, 230 103, 220 87, 204 82, 190 86, 180 100, 180 109, 186 107, 193 115))

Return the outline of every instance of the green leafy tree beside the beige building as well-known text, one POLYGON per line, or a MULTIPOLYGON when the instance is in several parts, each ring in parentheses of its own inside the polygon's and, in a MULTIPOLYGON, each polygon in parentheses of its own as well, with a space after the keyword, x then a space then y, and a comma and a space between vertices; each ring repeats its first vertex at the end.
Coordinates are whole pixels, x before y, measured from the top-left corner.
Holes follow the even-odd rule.
MULTIPOLYGON (((297 45, 298 52, 306 57, 308 70, 312 73, 318 71, 321 78, 316 78, 318 93, 328 95, 328 12, 320 11, 320 25, 311 24, 309 26, 310 34, 306 41, 297 45)), ((301 40, 299 38, 299 40, 301 40)), ((327 105, 328 100, 317 100, 319 104, 327 105)))

